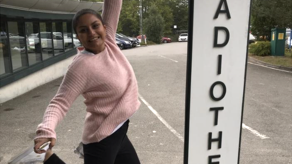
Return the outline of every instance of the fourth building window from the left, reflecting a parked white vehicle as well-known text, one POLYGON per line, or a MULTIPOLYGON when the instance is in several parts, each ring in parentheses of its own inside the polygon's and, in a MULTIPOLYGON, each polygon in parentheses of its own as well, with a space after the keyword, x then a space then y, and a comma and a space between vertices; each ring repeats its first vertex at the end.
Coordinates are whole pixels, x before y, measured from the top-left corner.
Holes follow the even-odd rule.
POLYGON ((42 60, 45 60, 54 56, 51 23, 40 22, 39 28, 42 47, 42 60))

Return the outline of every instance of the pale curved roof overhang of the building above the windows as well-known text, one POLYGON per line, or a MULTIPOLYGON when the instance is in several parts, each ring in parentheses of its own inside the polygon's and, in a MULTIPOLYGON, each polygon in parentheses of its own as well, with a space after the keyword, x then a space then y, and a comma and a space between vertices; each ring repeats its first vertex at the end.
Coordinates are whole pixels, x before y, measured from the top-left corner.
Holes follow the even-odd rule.
POLYGON ((0 0, 0 6, 34 12, 75 14, 84 8, 101 11, 103 2, 76 0, 0 0))

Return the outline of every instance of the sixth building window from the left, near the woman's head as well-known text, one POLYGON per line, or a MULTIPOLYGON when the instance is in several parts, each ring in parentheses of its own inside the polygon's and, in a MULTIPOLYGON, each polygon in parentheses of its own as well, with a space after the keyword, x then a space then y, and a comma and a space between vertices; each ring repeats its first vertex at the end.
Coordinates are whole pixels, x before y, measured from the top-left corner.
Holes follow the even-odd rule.
POLYGON ((65 51, 73 48, 71 22, 63 22, 63 36, 65 51))

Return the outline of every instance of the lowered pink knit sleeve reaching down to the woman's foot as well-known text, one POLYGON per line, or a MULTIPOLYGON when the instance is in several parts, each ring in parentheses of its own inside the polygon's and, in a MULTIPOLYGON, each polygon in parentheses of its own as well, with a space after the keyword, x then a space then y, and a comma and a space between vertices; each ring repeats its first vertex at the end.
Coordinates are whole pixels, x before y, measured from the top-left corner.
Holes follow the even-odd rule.
POLYGON ((84 65, 82 66, 73 61, 63 78, 57 94, 45 110, 43 121, 36 130, 36 138, 56 139, 56 126, 65 117, 74 100, 86 90, 86 81, 84 65))

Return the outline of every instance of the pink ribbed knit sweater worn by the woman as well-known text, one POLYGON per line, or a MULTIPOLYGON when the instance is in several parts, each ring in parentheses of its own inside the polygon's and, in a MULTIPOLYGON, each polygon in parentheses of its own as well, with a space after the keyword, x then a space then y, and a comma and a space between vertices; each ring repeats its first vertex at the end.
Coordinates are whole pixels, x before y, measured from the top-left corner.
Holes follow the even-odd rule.
POLYGON ((84 144, 106 138, 138 110, 140 102, 133 68, 115 42, 121 4, 121 0, 104 1, 105 49, 98 54, 82 53, 83 48, 77 49, 56 96, 37 127, 36 138, 56 138, 57 124, 80 94, 87 106, 84 144))

